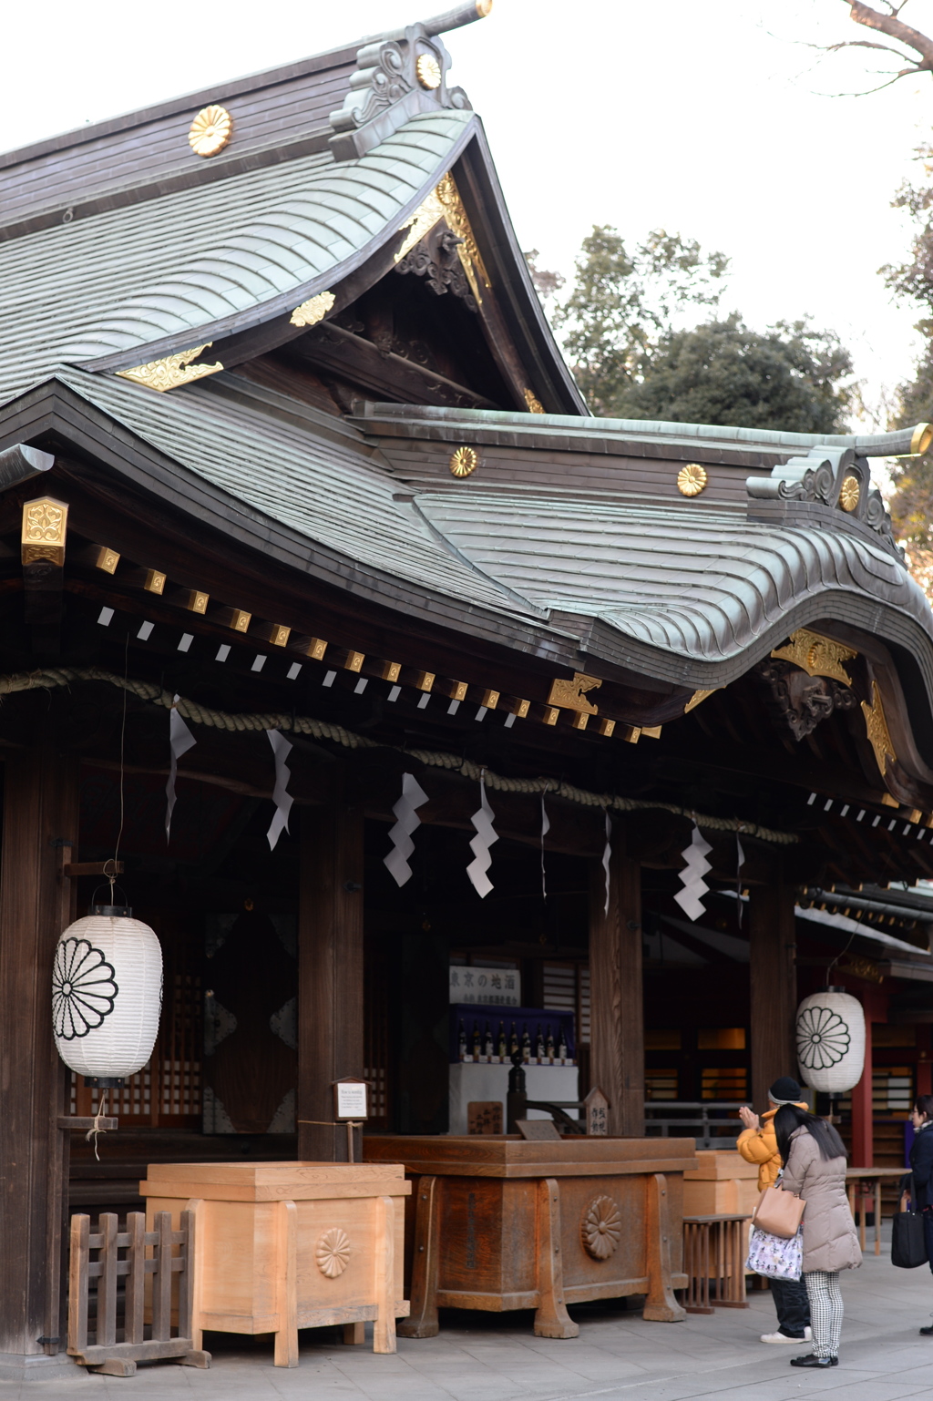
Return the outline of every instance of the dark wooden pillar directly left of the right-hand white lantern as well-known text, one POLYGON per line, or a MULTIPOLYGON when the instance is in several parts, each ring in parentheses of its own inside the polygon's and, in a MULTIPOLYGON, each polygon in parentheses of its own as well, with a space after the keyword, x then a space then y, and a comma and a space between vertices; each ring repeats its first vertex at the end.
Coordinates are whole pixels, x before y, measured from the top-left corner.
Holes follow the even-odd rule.
POLYGON ((794 891, 779 878, 752 885, 747 905, 751 944, 752 1104, 768 1108, 768 1089, 782 1075, 797 1079, 794 1012, 797 969, 794 891))

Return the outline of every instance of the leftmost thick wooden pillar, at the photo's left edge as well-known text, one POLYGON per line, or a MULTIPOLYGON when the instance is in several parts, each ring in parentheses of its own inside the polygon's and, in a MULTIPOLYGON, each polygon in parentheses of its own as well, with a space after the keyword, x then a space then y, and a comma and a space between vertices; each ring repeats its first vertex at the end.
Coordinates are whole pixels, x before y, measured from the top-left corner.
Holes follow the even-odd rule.
MULTIPOLYGON (((53 745, 8 754, 0 857, 0 1379, 45 1377, 60 1334, 67 1177, 66 1072, 52 1041, 52 960, 71 915, 63 866, 77 843, 78 766, 53 745), (63 845, 67 842, 69 845, 63 845)), ((60 1351, 60 1356, 55 1356, 60 1351)))

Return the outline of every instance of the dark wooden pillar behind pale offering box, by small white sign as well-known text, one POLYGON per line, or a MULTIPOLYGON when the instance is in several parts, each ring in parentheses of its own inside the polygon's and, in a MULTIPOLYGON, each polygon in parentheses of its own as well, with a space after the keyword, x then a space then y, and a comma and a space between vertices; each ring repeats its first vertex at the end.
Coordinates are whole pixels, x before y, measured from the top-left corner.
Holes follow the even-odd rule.
POLYGON ((338 775, 328 801, 301 810, 298 1157, 304 1161, 346 1161, 343 1125, 301 1122, 333 1119, 331 1086, 345 1075, 363 1075, 363 807, 338 775))

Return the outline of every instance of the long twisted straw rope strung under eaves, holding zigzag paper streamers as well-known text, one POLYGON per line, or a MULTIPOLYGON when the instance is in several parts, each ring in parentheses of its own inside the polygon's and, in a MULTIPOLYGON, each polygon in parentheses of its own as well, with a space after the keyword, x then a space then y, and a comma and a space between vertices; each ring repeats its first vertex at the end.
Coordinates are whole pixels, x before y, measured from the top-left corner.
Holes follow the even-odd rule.
POLYGON ((46 691, 52 686, 69 686, 76 681, 104 681, 108 685, 122 688, 125 692, 148 700, 171 710, 177 705, 178 713, 192 724, 206 724, 214 730, 228 730, 231 733, 259 733, 263 730, 283 730, 293 734, 308 734, 315 740, 329 740, 332 744, 342 744, 346 750, 396 750, 417 764, 427 768, 448 769, 462 778, 479 782, 485 773, 486 787, 500 793, 548 793, 549 797, 563 799, 566 803, 576 803, 580 807, 604 808, 612 813, 664 811, 674 813, 675 817, 689 817, 698 827, 710 832, 742 832, 747 836, 756 836, 761 842, 773 842, 778 846, 790 846, 800 841, 797 832, 779 832, 772 827, 759 827, 758 822, 741 821, 735 817, 713 817, 707 813, 695 813, 693 808, 681 807, 678 803, 644 801, 642 799, 622 797, 618 793, 591 793, 588 789, 576 787, 553 779, 511 779, 482 764, 474 764, 457 754, 445 754, 437 750, 412 750, 408 745, 380 744, 367 736, 354 734, 345 730, 342 724, 329 720, 315 720, 311 716, 294 713, 237 713, 213 710, 202 706, 196 700, 179 699, 175 702, 172 692, 163 691, 153 681, 134 681, 118 677, 112 671, 101 667, 48 667, 42 671, 20 671, 13 675, 0 677, 0 696, 13 695, 20 691, 46 691))

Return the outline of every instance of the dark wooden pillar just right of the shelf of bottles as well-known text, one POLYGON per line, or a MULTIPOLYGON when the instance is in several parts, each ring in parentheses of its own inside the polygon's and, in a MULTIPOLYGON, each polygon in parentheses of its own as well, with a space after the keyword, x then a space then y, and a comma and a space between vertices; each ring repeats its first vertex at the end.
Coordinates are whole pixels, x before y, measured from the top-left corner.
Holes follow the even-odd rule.
POLYGON ((642 867, 625 855, 616 825, 605 870, 590 863, 590 1082, 609 1101, 608 1131, 644 1136, 642 867))

